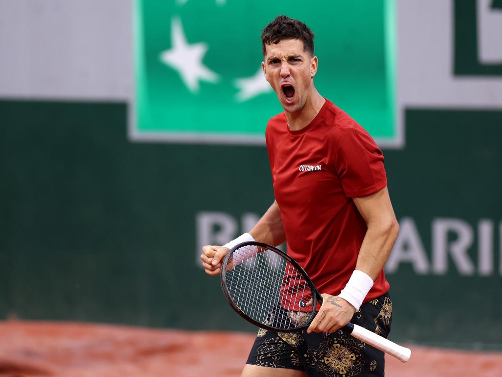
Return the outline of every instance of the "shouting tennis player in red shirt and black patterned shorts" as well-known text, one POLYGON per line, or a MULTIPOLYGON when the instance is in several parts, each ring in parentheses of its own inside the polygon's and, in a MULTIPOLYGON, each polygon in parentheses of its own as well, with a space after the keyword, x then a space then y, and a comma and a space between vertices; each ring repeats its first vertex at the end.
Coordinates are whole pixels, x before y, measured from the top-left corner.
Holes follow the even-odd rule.
POLYGON ((206 273, 217 275, 240 242, 287 241, 288 253, 322 293, 306 331, 259 331, 245 377, 384 375, 384 353, 338 329, 351 321, 389 334, 392 302, 383 268, 399 225, 382 151, 314 85, 313 38, 305 24, 286 16, 264 29, 263 72, 284 108, 266 130, 275 202, 249 233, 202 249, 206 273))

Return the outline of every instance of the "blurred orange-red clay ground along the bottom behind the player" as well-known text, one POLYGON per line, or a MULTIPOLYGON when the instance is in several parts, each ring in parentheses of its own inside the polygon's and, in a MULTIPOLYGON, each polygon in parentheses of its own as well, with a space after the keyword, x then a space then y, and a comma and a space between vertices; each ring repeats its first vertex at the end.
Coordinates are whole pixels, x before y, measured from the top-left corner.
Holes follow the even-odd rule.
MULTIPOLYGON (((0 322, 1 377, 238 376, 254 334, 65 322, 0 322), (223 356, 224 355, 224 356, 223 356)), ((408 345, 391 377, 500 377, 502 353, 408 345)))

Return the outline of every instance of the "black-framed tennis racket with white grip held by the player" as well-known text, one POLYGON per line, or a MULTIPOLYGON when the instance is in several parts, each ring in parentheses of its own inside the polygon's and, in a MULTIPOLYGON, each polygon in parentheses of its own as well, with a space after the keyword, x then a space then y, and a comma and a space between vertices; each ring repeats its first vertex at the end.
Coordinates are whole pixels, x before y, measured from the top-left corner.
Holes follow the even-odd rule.
MULTIPOLYGON (((288 254, 261 242, 243 242, 221 265, 221 288, 230 306, 246 321, 276 332, 306 329, 322 297, 305 270, 288 254)), ((347 323, 341 330, 402 362, 411 350, 364 327, 347 323)))

